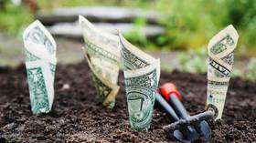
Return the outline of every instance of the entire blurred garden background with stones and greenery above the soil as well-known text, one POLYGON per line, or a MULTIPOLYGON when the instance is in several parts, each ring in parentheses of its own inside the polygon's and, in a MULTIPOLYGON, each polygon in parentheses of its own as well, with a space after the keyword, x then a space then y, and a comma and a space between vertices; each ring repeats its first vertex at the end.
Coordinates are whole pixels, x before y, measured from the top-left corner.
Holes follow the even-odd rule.
POLYGON ((22 63, 22 34, 35 19, 55 37, 60 63, 84 60, 78 15, 120 29, 165 70, 199 74, 207 71, 208 41, 232 24, 240 35, 232 76, 256 79, 255 0, 0 0, 0 66, 22 63))

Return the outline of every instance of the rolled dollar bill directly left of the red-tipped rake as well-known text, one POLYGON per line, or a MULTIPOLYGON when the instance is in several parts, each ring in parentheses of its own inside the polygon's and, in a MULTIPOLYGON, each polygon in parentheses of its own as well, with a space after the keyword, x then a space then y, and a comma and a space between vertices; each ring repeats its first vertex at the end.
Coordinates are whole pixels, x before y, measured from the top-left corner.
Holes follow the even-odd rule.
POLYGON ((160 77, 160 60, 145 54, 119 33, 123 56, 123 74, 131 128, 150 128, 156 90, 160 77))

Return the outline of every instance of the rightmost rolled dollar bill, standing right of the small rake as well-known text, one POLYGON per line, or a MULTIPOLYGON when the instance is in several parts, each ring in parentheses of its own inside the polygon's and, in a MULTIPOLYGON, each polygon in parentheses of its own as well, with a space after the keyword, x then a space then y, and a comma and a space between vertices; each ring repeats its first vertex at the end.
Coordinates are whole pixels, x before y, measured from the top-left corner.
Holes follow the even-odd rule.
POLYGON ((215 119, 222 116, 229 87, 229 78, 234 62, 234 49, 239 35, 229 25, 214 36, 208 43, 208 98, 207 109, 215 119))

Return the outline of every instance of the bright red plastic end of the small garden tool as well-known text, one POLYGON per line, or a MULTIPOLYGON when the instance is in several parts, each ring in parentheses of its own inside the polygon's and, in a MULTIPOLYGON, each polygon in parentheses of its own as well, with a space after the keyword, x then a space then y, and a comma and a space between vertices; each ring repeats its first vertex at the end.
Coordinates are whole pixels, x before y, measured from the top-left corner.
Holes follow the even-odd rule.
POLYGON ((169 102, 169 96, 175 94, 178 99, 181 100, 181 95, 177 91, 176 85, 173 83, 165 83, 161 88, 161 95, 165 97, 165 100, 169 102))

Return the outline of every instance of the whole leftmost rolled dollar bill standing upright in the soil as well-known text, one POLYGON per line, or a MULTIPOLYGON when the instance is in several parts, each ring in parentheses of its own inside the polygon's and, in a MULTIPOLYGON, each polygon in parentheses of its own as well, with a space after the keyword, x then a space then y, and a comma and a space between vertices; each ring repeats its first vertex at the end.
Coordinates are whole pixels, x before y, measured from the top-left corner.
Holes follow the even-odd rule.
POLYGON ((54 99, 56 43, 38 20, 27 27, 23 41, 32 112, 48 113, 54 99))

